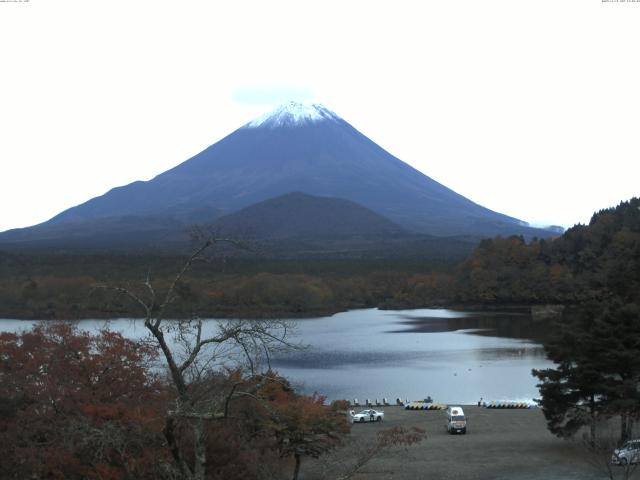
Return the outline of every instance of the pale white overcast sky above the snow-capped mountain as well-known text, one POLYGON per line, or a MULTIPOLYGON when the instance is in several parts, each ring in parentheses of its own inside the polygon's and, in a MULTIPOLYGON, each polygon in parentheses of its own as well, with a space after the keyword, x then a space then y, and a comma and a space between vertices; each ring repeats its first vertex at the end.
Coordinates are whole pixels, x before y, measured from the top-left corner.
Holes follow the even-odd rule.
POLYGON ((0 0, 0 42, 0 231, 290 99, 535 224, 640 194, 640 2, 0 0))

